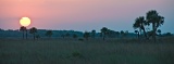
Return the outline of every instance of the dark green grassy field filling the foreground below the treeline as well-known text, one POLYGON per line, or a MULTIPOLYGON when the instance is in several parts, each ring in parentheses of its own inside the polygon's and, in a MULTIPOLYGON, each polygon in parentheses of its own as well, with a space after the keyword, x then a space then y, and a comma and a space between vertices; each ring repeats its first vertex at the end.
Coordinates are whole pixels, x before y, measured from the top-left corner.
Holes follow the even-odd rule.
POLYGON ((173 38, 0 40, 0 64, 174 64, 173 38))

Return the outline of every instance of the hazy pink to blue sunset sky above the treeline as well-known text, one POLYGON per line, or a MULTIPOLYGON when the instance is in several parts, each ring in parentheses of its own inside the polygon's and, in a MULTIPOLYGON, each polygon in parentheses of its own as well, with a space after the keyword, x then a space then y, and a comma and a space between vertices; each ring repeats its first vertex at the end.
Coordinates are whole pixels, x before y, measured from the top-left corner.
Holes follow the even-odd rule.
POLYGON ((0 28, 18 29, 27 16, 28 28, 134 31, 135 18, 149 10, 165 17, 163 33, 174 33, 174 0, 0 0, 0 28))

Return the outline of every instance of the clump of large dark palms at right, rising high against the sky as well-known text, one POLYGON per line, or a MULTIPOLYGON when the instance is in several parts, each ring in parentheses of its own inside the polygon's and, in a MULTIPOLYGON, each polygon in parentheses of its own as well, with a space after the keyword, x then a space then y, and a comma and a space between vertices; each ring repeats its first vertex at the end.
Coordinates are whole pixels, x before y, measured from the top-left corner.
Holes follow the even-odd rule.
MULTIPOLYGON (((159 15, 159 13, 156 10, 148 11, 146 14, 146 20, 144 16, 139 16, 135 20, 135 23, 133 24, 133 27, 135 29, 139 29, 138 33, 144 31, 144 35, 146 39, 149 39, 150 36, 152 36, 154 42, 156 42, 156 36, 157 36, 157 30, 158 28, 163 25, 164 23, 164 17, 159 15), (151 31, 146 31, 146 26, 152 26, 151 31)), ((161 33, 159 30, 159 33, 161 33)))

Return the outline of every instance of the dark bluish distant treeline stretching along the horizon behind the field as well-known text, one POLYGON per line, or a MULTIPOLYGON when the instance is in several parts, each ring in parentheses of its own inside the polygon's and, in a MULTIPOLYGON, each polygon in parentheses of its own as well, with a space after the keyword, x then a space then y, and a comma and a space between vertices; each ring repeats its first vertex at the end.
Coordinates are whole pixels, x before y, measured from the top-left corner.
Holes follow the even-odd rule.
MULTIPOLYGON (((29 34, 29 29, 27 29, 27 37, 33 38, 33 34, 29 34)), ((47 29, 37 29, 35 38, 137 38, 136 33, 128 33, 128 30, 121 30, 121 31, 114 31, 111 29, 108 29, 110 31, 105 33, 107 35, 103 36, 103 33, 96 33, 96 30, 91 31, 75 31, 75 30, 47 30, 47 29), (87 33, 87 34, 86 34, 87 33)), ((25 35, 25 34, 24 34, 25 35)), ((142 36, 142 35, 140 35, 142 36)), ((165 36, 172 36, 171 33, 164 33, 160 34, 161 37, 165 36)), ((23 31, 17 29, 17 30, 3 30, 0 29, 0 38, 23 38, 23 31)))

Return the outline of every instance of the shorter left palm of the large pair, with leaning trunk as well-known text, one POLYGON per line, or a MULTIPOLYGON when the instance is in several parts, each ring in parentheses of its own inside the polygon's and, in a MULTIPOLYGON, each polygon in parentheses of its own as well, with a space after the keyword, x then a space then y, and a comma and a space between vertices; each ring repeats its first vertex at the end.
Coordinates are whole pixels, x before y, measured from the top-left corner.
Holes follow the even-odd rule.
POLYGON ((147 25, 146 21, 145 21, 145 17, 144 16, 139 16, 135 20, 135 23, 133 25, 133 27, 135 29, 139 28, 139 31, 144 30, 144 35, 145 37, 148 39, 147 37, 147 33, 145 30, 145 26, 147 25))

